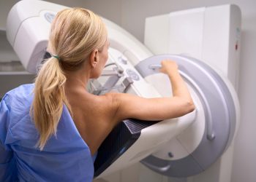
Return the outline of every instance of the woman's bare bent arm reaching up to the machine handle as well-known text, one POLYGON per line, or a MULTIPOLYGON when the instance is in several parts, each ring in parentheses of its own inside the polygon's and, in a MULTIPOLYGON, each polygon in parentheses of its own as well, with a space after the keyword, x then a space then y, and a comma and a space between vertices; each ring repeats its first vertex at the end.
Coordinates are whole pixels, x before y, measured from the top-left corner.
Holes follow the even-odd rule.
POLYGON ((167 74, 172 85, 170 98, 140 98, 124 93, 110 93, 116 107, 115 121, 127 118, 161 120, 183 116, 195 109, 184 80, 178 74, 178 66, 170 60, 162 61, 160 71, 167 74))

